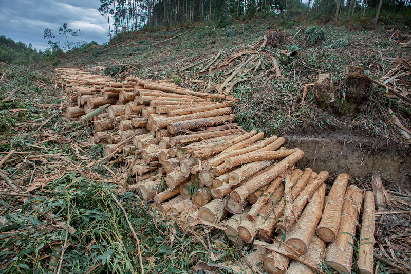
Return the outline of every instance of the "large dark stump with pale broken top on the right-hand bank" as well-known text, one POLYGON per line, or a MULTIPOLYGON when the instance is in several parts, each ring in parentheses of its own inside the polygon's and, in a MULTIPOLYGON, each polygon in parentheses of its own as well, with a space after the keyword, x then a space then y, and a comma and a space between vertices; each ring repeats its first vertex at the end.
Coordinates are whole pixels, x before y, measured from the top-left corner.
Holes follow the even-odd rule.
POLYGON ((346 78, 334 88, 331 74, 320 74, 314 85, 317 104, 336 115, 356 116, 367 103, 371 82, 354 77, 355 74, 363 74, 364 69, 349 66, 346 69, 346 78))

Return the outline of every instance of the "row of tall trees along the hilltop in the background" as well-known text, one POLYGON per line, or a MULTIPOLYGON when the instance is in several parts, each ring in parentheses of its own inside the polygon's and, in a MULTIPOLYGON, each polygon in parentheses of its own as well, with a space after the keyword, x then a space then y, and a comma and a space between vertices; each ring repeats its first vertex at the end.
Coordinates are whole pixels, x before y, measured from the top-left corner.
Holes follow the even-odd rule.
MULTIPOLYGON (((372 16, 377 23, 380 12, 404 16, 411 24, 411 0, 100 0, 99 11, 106 17, 109 36, 143 27, 190 24, 203 20, 253 18, 285 15, 321 17, 322 22, 353 15, 372 16), (114 22, 113 22, 114 21, 114 22)), ((386 17, 386 15, 384 15, 386 17)), ((285 19, 285 18, 284 18, 285 19)), ((401 23, 401 22, 397 22, 401 23)))

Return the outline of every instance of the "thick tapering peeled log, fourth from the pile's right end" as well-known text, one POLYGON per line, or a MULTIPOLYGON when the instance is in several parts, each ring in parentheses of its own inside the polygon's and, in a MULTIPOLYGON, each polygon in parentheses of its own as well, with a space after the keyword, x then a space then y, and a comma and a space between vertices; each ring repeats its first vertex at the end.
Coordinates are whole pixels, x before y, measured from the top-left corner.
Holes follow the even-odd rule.
POLYGON ((324 197, 325 184, 322 184, 312 195, 310 203, 308 203, 298 220, 298 224, 287 234, 286 243, 300 254, 308 251, 312 236, 315 234, 315 228, 321 219, 324 197))

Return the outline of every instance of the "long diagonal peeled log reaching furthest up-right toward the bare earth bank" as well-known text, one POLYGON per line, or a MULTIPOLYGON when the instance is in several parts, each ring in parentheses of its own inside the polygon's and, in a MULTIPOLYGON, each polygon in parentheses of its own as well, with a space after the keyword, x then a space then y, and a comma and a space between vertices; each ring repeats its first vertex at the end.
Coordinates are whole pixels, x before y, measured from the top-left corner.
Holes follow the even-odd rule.
POLYGON ((233 200, 235 200, 235 202, 241 202, 242 200, 246 199, 252 192, 268 184, 279 174, 294 166, 295 162, 303 158, 303 156, 304 152, 302 150, 294 152, 293 154, 278 162, 267 172, 255 177, 253 180, 247 181, 246 183, 233 190, 230 193, 230 196, 233 198, 233 200))

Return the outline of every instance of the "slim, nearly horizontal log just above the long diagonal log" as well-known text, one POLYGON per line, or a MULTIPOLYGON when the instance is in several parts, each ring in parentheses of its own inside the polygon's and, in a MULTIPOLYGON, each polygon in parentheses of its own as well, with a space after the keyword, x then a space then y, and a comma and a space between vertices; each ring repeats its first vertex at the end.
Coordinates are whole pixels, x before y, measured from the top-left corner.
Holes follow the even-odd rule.
POLYGON ((244 155, 235 156, 225 160, 225 165, 227 168, 233 168, 239 165, 244 165, 249 162, 264 161, 264 160, 276 160, 287 157, 300 149, 291 150, 279 150, 279 151, 256 151, 250 152, 244 155))

